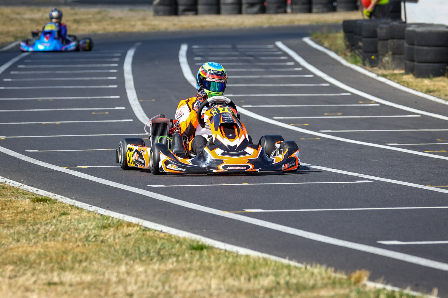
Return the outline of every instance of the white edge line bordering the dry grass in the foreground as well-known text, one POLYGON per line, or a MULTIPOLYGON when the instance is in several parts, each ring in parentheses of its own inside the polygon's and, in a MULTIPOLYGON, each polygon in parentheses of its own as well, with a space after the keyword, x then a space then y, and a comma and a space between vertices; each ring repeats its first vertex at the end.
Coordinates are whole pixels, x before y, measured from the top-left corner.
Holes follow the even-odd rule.
MULTIPOLYGON (((283 264, 289 264, 289 265, 293 265, 293 266, 297 266, 297 267, 304 267, 303 264, 295 262, 295 261, 292 261, 292 260, 280 258, 278 256, 273 256, 273 255, 270 255, 270 254, 267 254, 267 253, 263 253, 263 252, 257 252, 257 251, 254 251, 252 249, 249 249, 249 248, 243 248, 243 247, 236 246, 236 245, 233 245, 233 244, 228 244, 228 243, 224 243, 224 242, 221 242, 221 241, 216 241, 214 239, 210 239, 210 238, 207 238, 207 237, 204 237, 204 236, 201 236, 201 235, 197 235, 197 234, 193 234, 193 233, 190 233, 190 232, 178 230, 178 229, 175 229, 175 228, 172 228, 172 227, 167 227, 167 226, 155 223, 155 222, 150 222, 150 221, 147 221, 147 220, 136 218, 134 216, 129 216, 129 215, 121 214, 121 213, 118 213, 118 212, 114 212, 114 211, 106 210, 106 209, 103 209, 103 208, 99 208, 99 207, 96 207, 96 206, 92 206, 92 205, 89 205, 89 204, 86 204, 86 203, 82 203, 82 202, 79 202, 79 201, 76 201, 76 200, 69 199, 68 197, 64 197, 64 196, 61 196, 61 195, 58 195, 58 194, 55 194, 55 193, 50 193, 50 192, 47 192, 45 190, 37 189, 37 188, 32 187, 32 186, 24 185, 22 183, 19 183, 19 182, 13 181, 13 180, 9 180, 9 179, 4 178, 2 176, 0 176, 0 182, 8 184, 8 185, 11 185, 11 186, 14 186, 14 187, 17 187, 17 188, 20 188, 20 189, 23 189, 23 190, 26 190, 26 191, 29 191, 30 193, 35 193, 35 194, 38 194, 40 196, 45 196, 45 197, 52 198, 54 200, 57 200, 57 201, 60 201, 60 202, 63 202, 63 203, 66 203, 66 204, 69 204, 69 205, 72 205, 72 206, 76 206, 76 207, 82 208, 82 209, 87 210, 87 211, 91 211, 91 212, 95 212, 95 213, 98 213, 98 214, 110 216, 110 217, 113 217, 113 218, 118 218, 118 219, 124 220, 126 222, 132 222, 132 223, 138 224, 138 225, 140 225, 142 227, 146 227, 146 228, 153 229, 153 230, 156 230, 156 231, 160 231, 160 232, 163 232, 163 233, 167 233, 167 234, 170 234, 170 235, 184 237, 184 238, 192 239, 192 240, 198 240, 198 241, 201 241, 201 242, 203 242, 203 243, 205 243, 207 245, 210 245, 210 246, 212 246, 214 248, 219 248, 219 249, 226 250, 226 251, 229 251, 229 252, 236 252, 239 255, 263 257, 263 258, 267 258, 269 260, 274 260, 274 261, 281 262, 283 264)), ((344 278, 345 276, 340 275, 340 277, 344 278)), ((407 289, 406 290, 405 289, 401 289, 401 288, 398 288, 398 287, 394 287, 392 285, 384 285, 384 284, 381 284, 381 283, 378 283, 378 282, 374 282, 374 281, 365 281, 364 284, 367 285, 367 286, 370 286, 370 287, 378 288, 378 289, 385 289, 385 290, 390 290, 390 291, 402 292, 402 293, 411 294, 411 295, 415 295, 415 296, 426 296, 426 297, 431 297, 431 298, 439 298, 439 297, 436 297, 436 296, 429 296, 429 295, 426 295, 426 294, 422 294, 422 293, 411 291, 411 290, 407 290, 407 289)))

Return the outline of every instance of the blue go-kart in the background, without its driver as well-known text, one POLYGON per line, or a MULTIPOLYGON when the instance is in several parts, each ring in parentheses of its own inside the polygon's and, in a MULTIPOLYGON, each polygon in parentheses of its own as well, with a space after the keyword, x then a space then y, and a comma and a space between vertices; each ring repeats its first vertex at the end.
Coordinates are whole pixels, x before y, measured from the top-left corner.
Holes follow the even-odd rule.
POLYGON ((79 51, 91 50, 93 48, 92 39, 86 38, 78 40, 74 35, 68 35, 66 40, 60 41, 57 37, 58 25, 47 23, 39 36, 38 32, 32 32, 32 38, 23 40, 20 43, 22 52, 37 51, 79 51))

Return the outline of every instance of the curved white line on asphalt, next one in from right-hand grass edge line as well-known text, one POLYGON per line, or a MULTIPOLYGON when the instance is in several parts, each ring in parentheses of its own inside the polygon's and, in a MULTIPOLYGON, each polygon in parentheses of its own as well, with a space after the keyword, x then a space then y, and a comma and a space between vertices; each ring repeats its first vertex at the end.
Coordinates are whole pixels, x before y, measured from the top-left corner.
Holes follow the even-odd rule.
POLYGON ((443 116, 443 115, 439 115, 439 114, 435 114, 435 113, 429 113, 429 112, 425 112, 419 109, 414 109, 414 108, 409 108, 405 105, 398 105, 396 103, 393 103, 391 101, 385 101, 381 98, 375 97, 373 95, 367 94, 366 92, 362 92, 359 91, 358 89, 352 88, 350 86, 347 86, 346 84, 341 83, 340 81, 332 78, 331 76, 328 76, 327 74, 323 73, 322 71, 320 71, 319 69, 317 69, 316 67, 312 66, 310 63, 306 62, 301 56, 299 56, 296 52, 294 52, 293 50, 291 50, 289 47, 285 46, 282 42, 276 42, 276 45, 284 50, 286 53, 288 53, 291 57, 293 57, 294 60, 296 60, 298 63, 300 63, 303 67, 305 67, 306 69, 308 69, 309 71, 311 71, 312 73, 314 73, 316 76, 320 76, 322 79, 326 80, 328 83, 331 83, 339 88, 345 89, 349 92, 352 92, 354 94, 357 94, 361 97, 364 97, 370 101, 376 101, 380 104, 383 105, 389 105, 391 107, 397 108, 397 109, 402 109, 411 113, 418 113, 418 114, 422 114, 422 115, 426 115, 426 116, 430 116, 430 117, 434 117, 434 118, 439 118, 442 120, 448 120, 447 116, 443 116))

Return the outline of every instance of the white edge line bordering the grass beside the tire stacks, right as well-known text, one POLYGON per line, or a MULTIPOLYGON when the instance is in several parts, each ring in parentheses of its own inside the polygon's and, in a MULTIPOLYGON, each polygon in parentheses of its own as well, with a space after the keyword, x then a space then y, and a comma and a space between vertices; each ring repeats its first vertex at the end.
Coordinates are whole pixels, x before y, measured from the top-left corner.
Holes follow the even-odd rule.
POLYGON ((366 76, 370 76, 371 78, 374 78, 375 80, 379 80, 380 82, 383 82, 385 84, 388 84, 392 87, 395 87, 397 89, 403 90, 405 92, 409 92, 411 94, 417 95, 419 97, 423 97, 426 99, 429 99, 431 101, 436 101, 438 103, 444 104, 444 105, 448 105, 448 101, 444 101, 443 99, 440 99, 438 97, 434 97, 431 96, 429 94, 405 87, 401 84, 395 83, 391 80, 388 80, 386 78, 383 78, 382 76, 378 76, 377 74, 370 72, 362 67, 359 67, 358 65, 353 65, 349 62, 347 62, 347 60, 345 60, 344 58, 338 56, 335 52, 328 50, 326 48, 324 48, 323 46, 319 46, 318 44, 316 44, 315 42, 313 42, 309 37, 305 37, 302 38, 302 40, 304 42, 306 42, 308 45, 314 47, 317 50, 320 50, 321 52, 324 52, 325 54, 327 54, 328 56, 332 57, 333 59, 336 59, 337 61, 339 61, 340 63, 342 63, 342 65, 350 67, 352 69, 354 69, 355 71, 361 72, 362 74, 366 75, 366 76))

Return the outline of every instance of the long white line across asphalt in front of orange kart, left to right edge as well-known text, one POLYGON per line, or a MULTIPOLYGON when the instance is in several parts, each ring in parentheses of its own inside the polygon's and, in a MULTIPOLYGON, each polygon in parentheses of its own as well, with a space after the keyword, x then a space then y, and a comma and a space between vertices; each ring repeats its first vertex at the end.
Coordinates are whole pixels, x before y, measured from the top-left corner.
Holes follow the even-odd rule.
MULTIPOLYGON (((246 222, 246 223, 250 223, 259 227, 266 227, 268 229, 271 230, 275 230, 275 231, 280 231, 280 232, 284 232, 290 235, 296 235, 299 237, 303 237, 306 239, 311 239, 314 241, 319 241, 322 243, 327 243, 327 244, 332 244, 332 245, 336 245, 336 246, 340 246, 340 247, 344 247, 344 248, 350 248, 350 249, 354 249, 354 250, 358 250, 358 251, 362 251, 362 252, 368 252, 368 253, 372 253, 375 255, 379 255, 379 256, 385 256, 388 258, 392 258, 392 259, 396 259, 396 260, 402 260, 405 262, 409 262, 412 264, 418 264, 421 266, 425 266, 425 267, 429 267, 429 268, 434 268, 434 269, 439 269, 439 270, 443 270, 443 271, 448 271, 448 264, 443 263, 443 262, 439 262, 439 261, 435 261, 435 260, 430 260, 430 259, 426 259, 426 258, 422 258, 419 256, 412 256, 409 254, 405 254, 402 252, 395 252, 392 250, 388 250, 388 249, 384 249, 384 248, 378 248, 378 247, 374 247, 374 246, 370 246, 370 245, 366 245, 366 244, 361 244, 361 243, 355 243, 355 242, 351 242, 351 241, 347 241, 347 240, 342 240, 342 239, 337 239, 334 237, 329 237, 326 235, 320 235, 317 233, 313 233, 313 232, 309 232, 309 231, 304 231, 304 230, 300 230, 300 229, 296 229, 293 227, 287 227, 284 225, 280 225, 274 222, 268 222, 265 220, 261 220, 258 218, 251 218, 248 216, 244 216, 241 214, 235 214, 235 213, 230 213, 230 212, 222 212, 222 210, 218 210, 218 209, 214 209, 214 208, 210 208, 210 207, 206 207, 206 206, 202 206, 202 205, 198 205, 198 204, 194 204, 188 201, 182 201, 179 199, 175 199, 172 197, 168 197, 168 196, 164 196, 162 194, 159 193, 154 193, 151 191, 147 191, 144 189, 138 189, 136 187, 132 187, 129 185, 124 185, 121 183, 117 183, 114 181, 110 181, 110 180, 106 180, 103 178, 99 178, 99 177, 95 177, 95 176, 91 176, 88 174, 85 174, 83 172, 78 172, 78 171, 73 171, 71 169, 68 168, 61 168, 58 167, 56 165, 53 164, 48 164, 46 162, 31 158, 29 156, 17 153, 15 151, 9 150, 7 148, 4 147, 0 147, 0 151, 4 152, 7 155, 16 157, 18 159, 22 159, 24 161, 30 162, 32 164, 36 164, 45 168, 49 168, 55 171, 59 171, 59 172, 63 172, 69 175, 73 175, 73 176, 77 176, 83 179, 87 179, 87 180, 91 180, 91 181, 95 181, 98 183, 101 183, 103 185, 108 185, 108 186, 112 186, 118 189, 123 189, 123 190, 127 190, 133 193, 138 193, 140 195, 146 196, 146 197, 151 197, 154 198, 156 200, 159 201, 164 201, 167 203, 171 203, 177 206, 182 206, 185 208, 189 208, 191 210, 198 210, 198 211, 202 211, 208 214, 213 214, 213 215, 218 215, 220 217, 224 217, 224 218, 229 218, 229 219, 233 219, 233 220, 237 220, 240 222, 246 222)), ((435 189, 432 189, 435 190, 435 189)))

